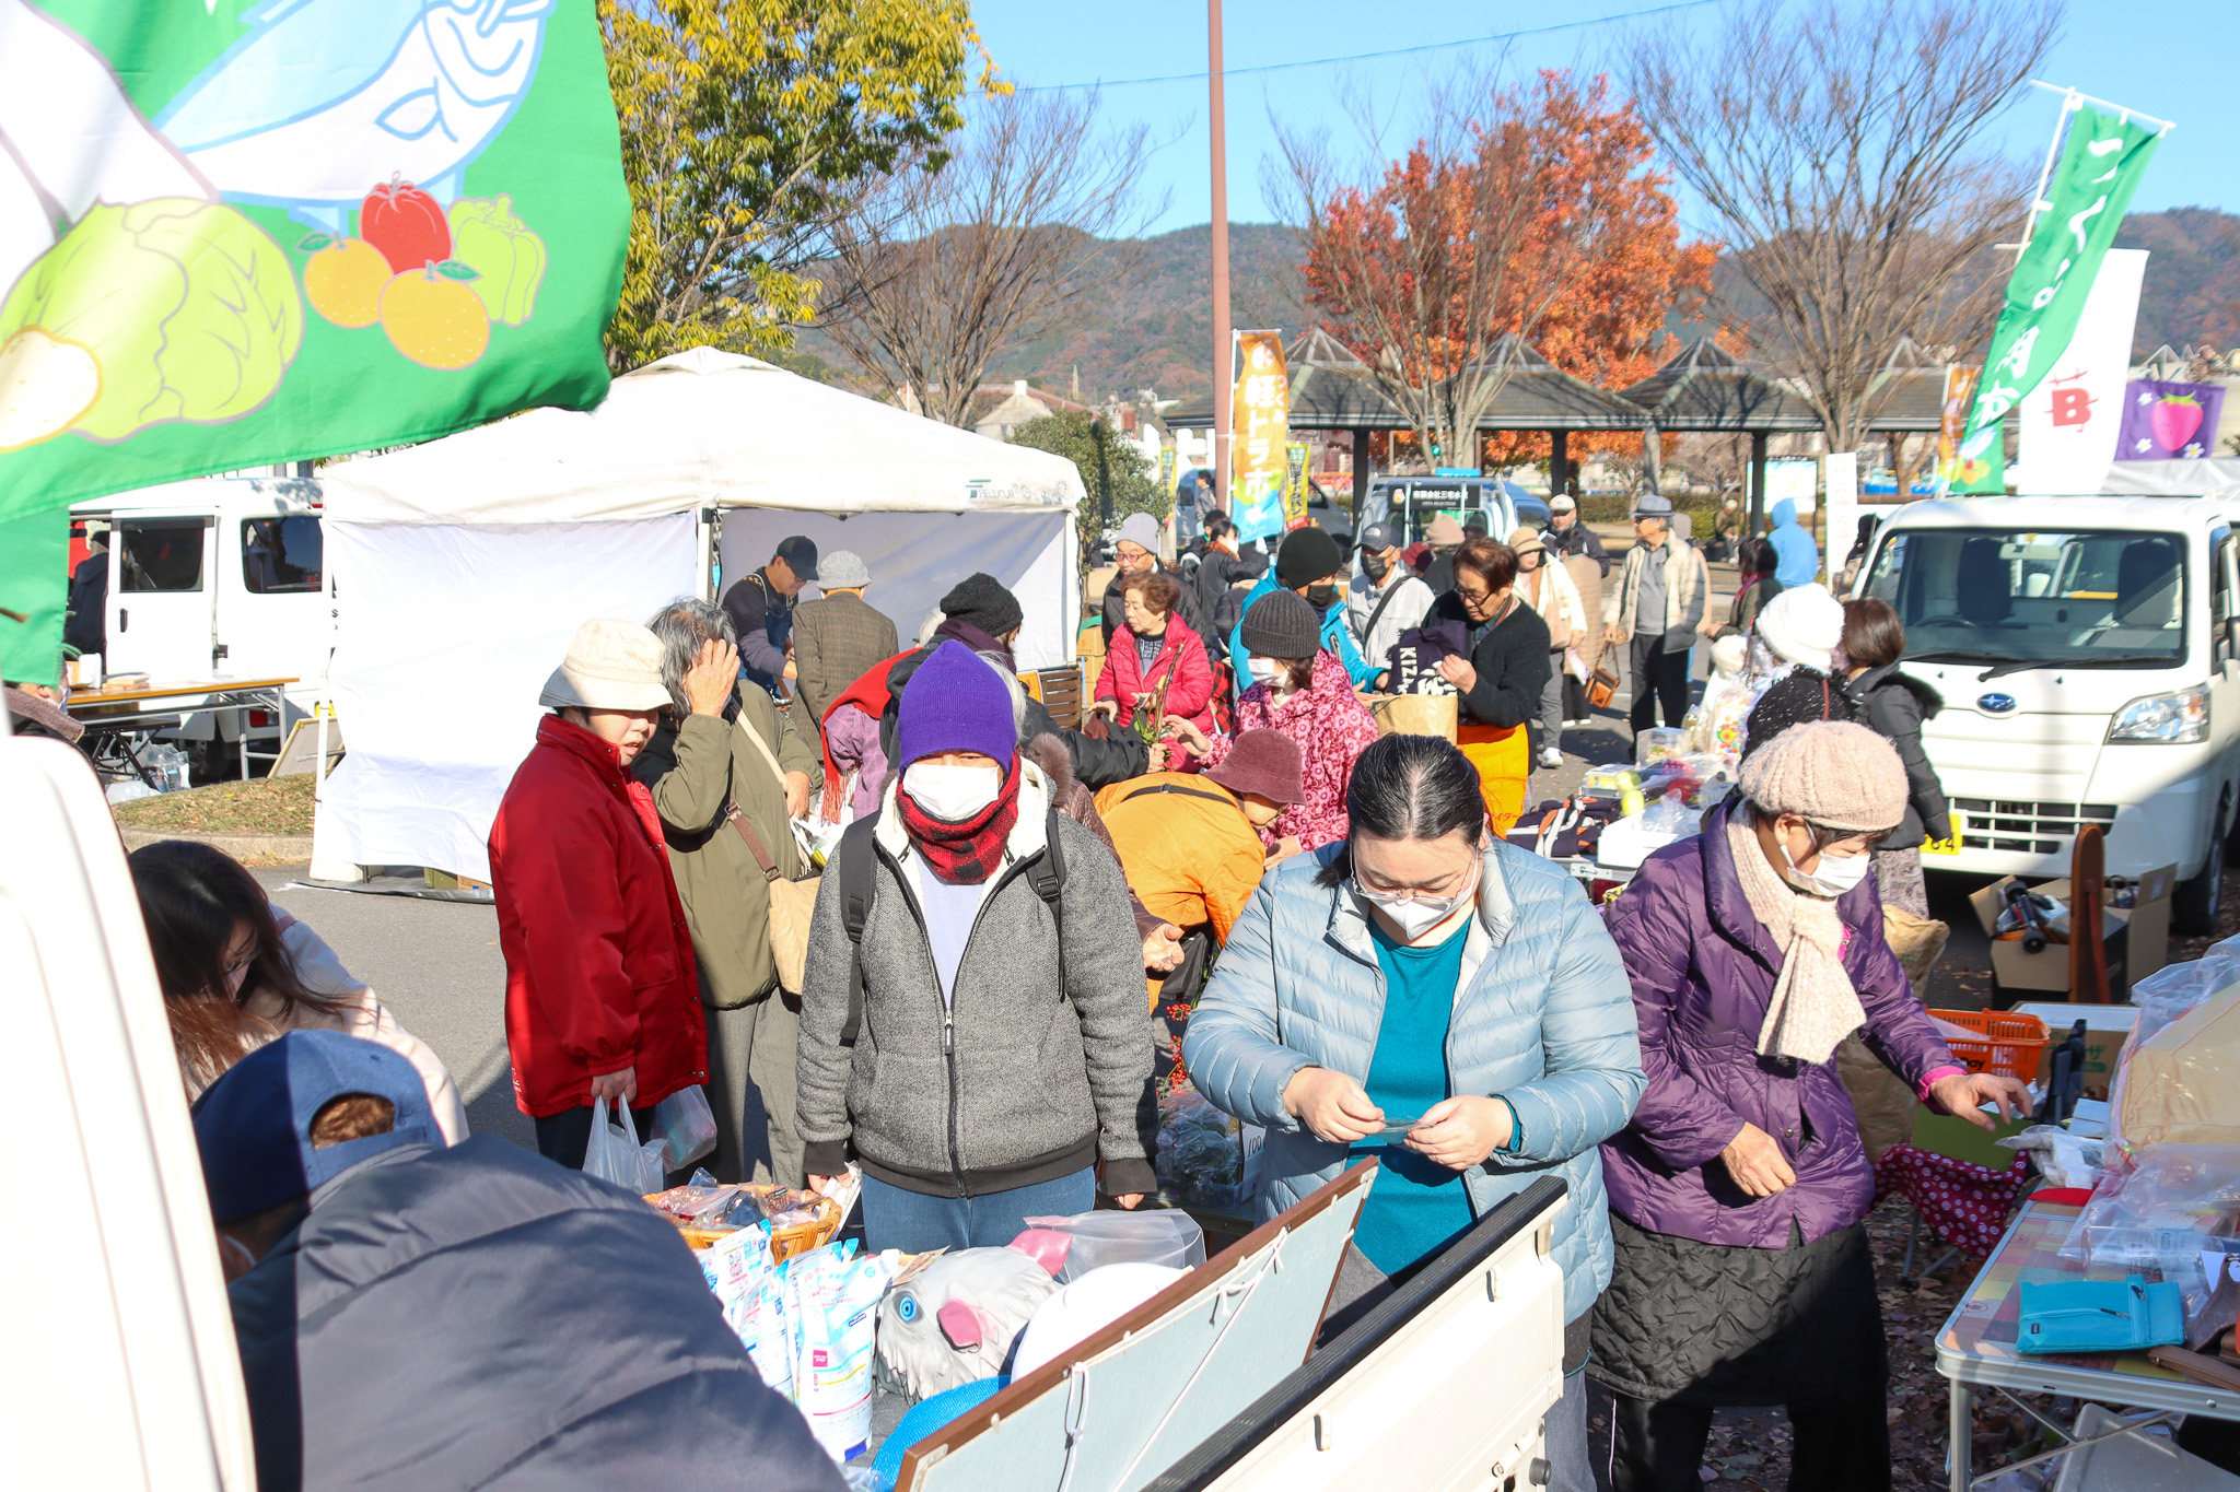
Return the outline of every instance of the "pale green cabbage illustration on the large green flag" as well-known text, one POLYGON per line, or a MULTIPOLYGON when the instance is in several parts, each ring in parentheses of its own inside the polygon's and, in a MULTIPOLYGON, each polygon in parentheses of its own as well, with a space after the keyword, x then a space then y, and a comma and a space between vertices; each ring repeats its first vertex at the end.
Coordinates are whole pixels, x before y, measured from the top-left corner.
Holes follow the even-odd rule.
POLYGON ((94 206, 0 300, 0 452, 240 418, 300 347, 296 275, 240 210, 94 206))

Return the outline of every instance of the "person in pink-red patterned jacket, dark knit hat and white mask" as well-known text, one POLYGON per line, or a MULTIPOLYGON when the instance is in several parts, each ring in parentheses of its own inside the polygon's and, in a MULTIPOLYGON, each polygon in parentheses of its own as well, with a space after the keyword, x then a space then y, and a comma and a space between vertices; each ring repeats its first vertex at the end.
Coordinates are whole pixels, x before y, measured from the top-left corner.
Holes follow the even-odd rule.
MULTIPOLYGON (((1234 731, 1281 731, 1299 745, 1306 761, 1301 799, 1261 828, 1270 861, 1344 839, 1346 783, 1353 778, 1353 758, 1378 738, 1375 718, 1353 693, 1346 664, 1324 646, 1315 608, 1299 595, 1270 591, 1252 602, 1236 624, 1236 638, 1250 684, 1236 698, 1234 731)), ((1207 767, 1228 761, 1236 743, 1236 734, 1210 734, 1174 714, 1163 729, 1207 767)))

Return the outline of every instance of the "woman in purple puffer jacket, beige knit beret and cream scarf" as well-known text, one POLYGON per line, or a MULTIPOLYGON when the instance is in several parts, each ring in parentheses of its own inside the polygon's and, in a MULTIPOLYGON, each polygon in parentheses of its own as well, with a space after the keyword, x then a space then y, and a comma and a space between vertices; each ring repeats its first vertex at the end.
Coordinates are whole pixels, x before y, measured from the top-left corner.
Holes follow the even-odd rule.
POLYGON ((2027 1098, 1953 1060, 1882 937, 1868 850, 1904 816, 1882 736, 1794 725, 1611 908, 1649 1074, 1602 1145, 1617 1257, 1588 1371, 1615 1396, 1613 1492, 1696 1492, 1720 1405, 1788 1405, 1790 1488, 1891 1485, 1875 1177, 1835 1047, 1859 1031, 1985 1127, 1978 1105, 2027 1098))

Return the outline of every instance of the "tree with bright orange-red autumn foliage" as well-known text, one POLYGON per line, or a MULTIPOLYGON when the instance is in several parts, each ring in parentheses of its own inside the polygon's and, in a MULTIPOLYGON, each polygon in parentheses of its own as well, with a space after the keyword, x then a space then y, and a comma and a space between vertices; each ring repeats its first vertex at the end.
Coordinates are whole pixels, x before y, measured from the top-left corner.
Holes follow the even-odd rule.
MULTIPOLYGON (((1624 387, 1655 369, 1664 322, 1711 291, 1718 246, 1680 242, 1651 134, 1608 83, 1541 72, 1532 87, 1434 94, 1400 161, 1346 181, 1319 141, 1284 139, 1306 239, 1308 304, 1407 412, 1418 441, 1472 450, 1465 432, 1521 336, 1568 374, 1624 387)), ((1635 436, 1604 436, 1624 443, 1635 436)), ((1537 432, 1487 438, 1490 463, 1546 454, 1537 432)))

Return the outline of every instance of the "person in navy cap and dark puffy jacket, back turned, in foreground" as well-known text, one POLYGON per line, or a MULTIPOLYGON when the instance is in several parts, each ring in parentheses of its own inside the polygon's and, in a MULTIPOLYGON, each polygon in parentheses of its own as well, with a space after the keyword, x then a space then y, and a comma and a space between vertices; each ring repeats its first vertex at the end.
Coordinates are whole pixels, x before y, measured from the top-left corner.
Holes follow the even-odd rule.
POLYGON ((683 1237, 477 1134, 388 1047, 291 1031, 195 1105, 258 1488, 840 1492, 683 1237))

